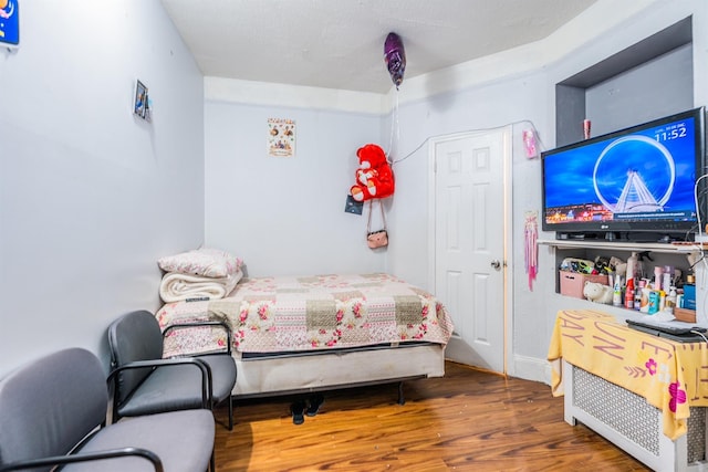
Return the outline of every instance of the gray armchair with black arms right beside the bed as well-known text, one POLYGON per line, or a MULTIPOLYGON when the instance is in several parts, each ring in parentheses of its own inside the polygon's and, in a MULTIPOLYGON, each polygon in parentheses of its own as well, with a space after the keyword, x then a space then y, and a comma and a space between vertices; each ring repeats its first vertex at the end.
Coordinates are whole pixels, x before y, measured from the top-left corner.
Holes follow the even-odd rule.
POLYGON ((147 311, 132 312, 108 326, 114 389, 113 418, 136 417, 164 411, 201 408, 228 401, 229 430, 233 428, 231 390, 236 385, 236 361, 231 357, 231 331, 220 322, 173 325, 220 326, 227 333, 227 349, 175 359, 163 359, 163 336, 155 316, 147 311), (205 376, 206 373, 206 376, 205 376))

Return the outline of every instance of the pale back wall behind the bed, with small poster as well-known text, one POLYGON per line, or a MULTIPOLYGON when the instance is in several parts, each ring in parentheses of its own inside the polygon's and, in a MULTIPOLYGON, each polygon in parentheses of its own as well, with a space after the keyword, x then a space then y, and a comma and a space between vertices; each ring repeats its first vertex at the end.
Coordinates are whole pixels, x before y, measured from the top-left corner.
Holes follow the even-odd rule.
POLYGON ((379 123, 366 113, 207 102, 206 243, 238 254, 250 276, 384 271, 386 253, 366 247, 368 209, 344 211, 356 149, 381 144, 379 123), (294 157, 268 156, 268 118, 295 122, 294 157))

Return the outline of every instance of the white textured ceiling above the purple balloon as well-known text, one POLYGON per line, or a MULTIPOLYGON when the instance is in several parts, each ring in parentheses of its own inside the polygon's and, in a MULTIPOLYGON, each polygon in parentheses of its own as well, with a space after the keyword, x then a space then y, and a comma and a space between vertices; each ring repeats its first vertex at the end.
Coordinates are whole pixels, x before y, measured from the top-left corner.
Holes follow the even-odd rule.
POLYGON ((387 93, 406 78, 541 40, 596 0, 162 0, 204 75, 387 93))

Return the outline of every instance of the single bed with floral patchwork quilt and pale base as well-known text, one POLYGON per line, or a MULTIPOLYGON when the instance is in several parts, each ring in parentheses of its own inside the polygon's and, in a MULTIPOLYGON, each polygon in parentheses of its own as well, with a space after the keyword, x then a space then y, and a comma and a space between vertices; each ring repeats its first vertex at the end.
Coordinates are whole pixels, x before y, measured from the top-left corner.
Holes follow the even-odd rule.
MULTIPOLYGON (((166 303, 170 324, 217 319, 233 334, 235 397, 275 396, 445 375, 452 322, 431 294, 389 274, 244 277, 222 298, 166 303)), ((165 357, 205 353, 223 331, 171 332, 165 357)))

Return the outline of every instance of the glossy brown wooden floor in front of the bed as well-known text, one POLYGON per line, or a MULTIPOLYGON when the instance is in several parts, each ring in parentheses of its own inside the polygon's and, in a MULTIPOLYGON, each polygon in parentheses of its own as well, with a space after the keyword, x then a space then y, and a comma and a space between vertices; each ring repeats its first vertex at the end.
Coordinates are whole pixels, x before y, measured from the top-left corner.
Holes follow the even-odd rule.
MULTIPOLYGON (((586 427, 563 421, 543 384, 452 363, 446 377, 325 392, 295 426, 293 397, 236 402, 233 431, 217 424, 218 472, 646 471, 586 427)), ((226 409, 217 412, 227 419, 226 409)))

